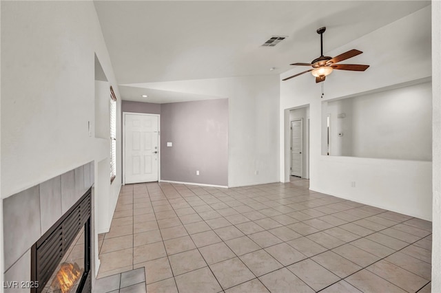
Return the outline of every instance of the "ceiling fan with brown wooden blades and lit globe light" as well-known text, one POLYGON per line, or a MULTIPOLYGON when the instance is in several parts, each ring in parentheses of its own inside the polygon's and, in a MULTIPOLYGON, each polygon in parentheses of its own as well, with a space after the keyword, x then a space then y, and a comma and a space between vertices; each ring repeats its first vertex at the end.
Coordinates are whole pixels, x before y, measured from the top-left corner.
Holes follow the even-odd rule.
POLYGON ((349 50, 343 54, 340 54, 334 58, 329 56, 323 56, 323 33, 325 32, 326 27, 319 28, 317 30, 317 34, 320 34, 320 53, 321 56, 311 61, 311 63, 293 63, 290 65, 300 65, 300 66, 311 66, 312 68, 305 71, 300 72, 299 74, 294 74, 293 76, 289 76, 283 80, 288 80, 290 78, 305 74, 307 72, 311 72, 313 76, 316 76, 316 83, 321 83, 325 80, 326 76, 331 74, 334 69, 339 70, 349 70, 353 72, 364 72, 369 65, 360 65, 360 64, 336 64, 340 61, 344 61, 346 59, 352 58, 353 56, 357 56, 362 54, 361 51, 358 50, 349 50))

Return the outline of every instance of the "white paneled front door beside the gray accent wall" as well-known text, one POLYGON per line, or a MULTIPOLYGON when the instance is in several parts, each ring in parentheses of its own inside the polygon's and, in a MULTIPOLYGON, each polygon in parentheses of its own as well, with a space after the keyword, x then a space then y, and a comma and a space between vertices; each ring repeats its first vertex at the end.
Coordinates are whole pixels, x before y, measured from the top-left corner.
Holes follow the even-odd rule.
POLYGON ((158 181, 158 116, 124 114, 125 184, 158 181))

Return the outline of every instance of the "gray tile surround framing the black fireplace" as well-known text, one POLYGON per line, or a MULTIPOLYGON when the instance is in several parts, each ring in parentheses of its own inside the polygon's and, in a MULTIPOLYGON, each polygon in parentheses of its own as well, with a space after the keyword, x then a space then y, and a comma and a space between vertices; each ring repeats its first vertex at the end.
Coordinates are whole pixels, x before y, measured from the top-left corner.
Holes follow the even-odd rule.
MULTIPOLYGON (((5 282, 30 281, 30 248, 93 184, 94 162, 89 162, 3 199, 5 282)), ((93 253, 92 249, 92 259, 93 253)), ((4 292, 30 290, 5 288, 4 292)))

